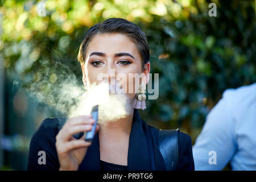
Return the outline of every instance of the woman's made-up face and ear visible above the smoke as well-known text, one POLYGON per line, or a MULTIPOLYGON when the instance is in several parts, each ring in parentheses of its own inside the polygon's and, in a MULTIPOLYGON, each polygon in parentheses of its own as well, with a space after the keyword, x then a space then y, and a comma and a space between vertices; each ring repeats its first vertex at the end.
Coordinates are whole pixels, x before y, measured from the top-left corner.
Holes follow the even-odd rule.
MULTIPOLYGON (((83 82, 88 87, 94 82, 99 84, 102 76, 109 82, 114 78, 120 81, 123 91, 131 99, 138 88, 138 81, 135 84, 135 78, 131 76, 141 73, 147 76, 150 72, 150 63, 144 65, 146 69, 142 71, 142 59, 137 46, 126 35, 119 33, 95 35, 86 49, 85 63, 81 67, 83 82), (130 90, 135 91, 131 93, 130 90)), ((147 84, 146 76, 141 75, 142 81, 147 84)))

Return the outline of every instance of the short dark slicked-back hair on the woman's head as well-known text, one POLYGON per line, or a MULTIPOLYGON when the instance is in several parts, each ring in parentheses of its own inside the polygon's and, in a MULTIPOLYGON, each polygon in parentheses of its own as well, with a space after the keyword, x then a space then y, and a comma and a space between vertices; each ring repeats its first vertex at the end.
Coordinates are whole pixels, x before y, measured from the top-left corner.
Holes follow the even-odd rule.
POLYGON ((77 59, 81 64, 84 64, 86 48, 93 36, 106 33, 121 33, 127 35, 138 48, 142 58, 142 69, 144 64, 150 61, 150 49, 148 47, 147 37, 141 28, 123 18, 109 18, 102 23, 97 23, 90 27, 89 31, 84 36, 84 39, 82 39, 79 54, 77 55, 77 59))

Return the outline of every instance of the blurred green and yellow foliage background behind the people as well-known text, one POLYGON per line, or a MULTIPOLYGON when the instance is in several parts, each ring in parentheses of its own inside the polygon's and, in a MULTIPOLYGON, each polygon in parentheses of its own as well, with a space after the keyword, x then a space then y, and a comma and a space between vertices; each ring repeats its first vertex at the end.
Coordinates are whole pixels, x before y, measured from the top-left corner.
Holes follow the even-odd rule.
POLYGON ((63 116, 19 90, 60 81, 56 63, 82 84, 81 40, 112 17, 134 22, 148 38, 159 98, 147 100, 141 116, 152 126, 180 128, 194 143, 224 90, 256 81, 255 1, 0 1, 1 170, 26 169, 32 134, 43 119, 63 116))

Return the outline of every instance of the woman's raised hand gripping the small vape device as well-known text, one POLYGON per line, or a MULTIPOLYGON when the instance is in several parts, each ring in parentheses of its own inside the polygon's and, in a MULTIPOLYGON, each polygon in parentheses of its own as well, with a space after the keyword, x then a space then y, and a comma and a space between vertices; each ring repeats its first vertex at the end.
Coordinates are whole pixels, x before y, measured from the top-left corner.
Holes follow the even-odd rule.
MULTIPOLYGON (((86 142, 84 137, 76 139, 74 134, 92 130, 95 120, 92 115, 82 115, 68 119, 56 135, 56 150, 61 170, 77 170, 92 142, 86 142)), ((99 126, 96 127, 97 133, 99 126)))

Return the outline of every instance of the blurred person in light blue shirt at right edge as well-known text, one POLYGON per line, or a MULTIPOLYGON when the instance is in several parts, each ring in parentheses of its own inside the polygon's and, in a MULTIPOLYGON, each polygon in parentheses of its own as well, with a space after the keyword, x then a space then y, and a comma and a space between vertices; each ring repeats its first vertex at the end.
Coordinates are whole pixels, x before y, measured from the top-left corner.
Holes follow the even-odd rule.
POLYGON ((195 170, 256 170, 256 83, 227 89, 193 145, 195 170))

